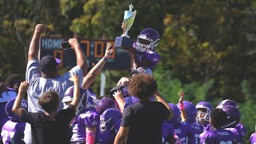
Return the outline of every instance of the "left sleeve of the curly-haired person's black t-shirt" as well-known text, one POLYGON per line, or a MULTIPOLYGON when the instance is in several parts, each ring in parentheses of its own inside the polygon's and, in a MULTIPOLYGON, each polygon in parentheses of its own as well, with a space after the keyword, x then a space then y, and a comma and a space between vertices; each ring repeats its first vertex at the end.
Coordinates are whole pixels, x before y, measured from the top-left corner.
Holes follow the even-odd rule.
POLYGON ((134 113, 130 106, 123 112, 121 126, 128 127, 132 123, 134 113))

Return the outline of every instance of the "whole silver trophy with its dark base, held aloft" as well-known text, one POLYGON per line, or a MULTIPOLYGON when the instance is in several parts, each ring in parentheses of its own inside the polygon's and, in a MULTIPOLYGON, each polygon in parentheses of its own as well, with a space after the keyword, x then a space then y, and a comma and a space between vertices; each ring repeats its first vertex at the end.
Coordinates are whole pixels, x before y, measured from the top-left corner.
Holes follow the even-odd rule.
POLYGON ((132 11, 133 8, 134 6, 130 4, 129 10, 125 10, 125 14, 123 18, 124 34, 115 38, 115 41, 114 41, 115 48, 127 49, 133 46, 133 41, 130 39, 130 36, 128 35, 128 31, 130 30, 130 27, 133 26, 134 18, 137 12, 136 10, 132 11))

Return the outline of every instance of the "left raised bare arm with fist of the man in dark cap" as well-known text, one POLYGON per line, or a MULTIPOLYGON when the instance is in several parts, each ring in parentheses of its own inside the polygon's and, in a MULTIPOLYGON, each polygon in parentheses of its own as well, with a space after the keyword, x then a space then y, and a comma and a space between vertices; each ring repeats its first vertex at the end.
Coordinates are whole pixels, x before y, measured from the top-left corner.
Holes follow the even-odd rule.
POLYGON ((33 38, 30 42, 30 48, 28 52, 27 61, 30 62, 32 59, 38 59, 38 50, 41 34, 46 30, 46 25, 38 24, 35 26, 33 38))

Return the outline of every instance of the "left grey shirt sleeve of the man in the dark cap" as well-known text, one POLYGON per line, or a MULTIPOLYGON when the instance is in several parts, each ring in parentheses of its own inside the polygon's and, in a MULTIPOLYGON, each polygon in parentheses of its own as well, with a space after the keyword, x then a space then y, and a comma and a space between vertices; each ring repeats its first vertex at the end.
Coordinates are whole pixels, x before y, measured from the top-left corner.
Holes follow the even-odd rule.
POLYGON ((39 62, 36 59, 30 60, 26 65, 26 82, 30 82, 33 78, 40 78, 41 71, 39 69, 39 62))

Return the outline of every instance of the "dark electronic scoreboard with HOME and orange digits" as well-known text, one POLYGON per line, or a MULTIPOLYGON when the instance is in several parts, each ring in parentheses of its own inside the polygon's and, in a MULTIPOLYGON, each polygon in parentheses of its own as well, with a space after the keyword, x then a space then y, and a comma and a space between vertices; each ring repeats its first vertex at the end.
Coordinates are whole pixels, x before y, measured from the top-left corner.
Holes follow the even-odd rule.
MULTIPOLYGON (((76 66, 76 56, 74 50, 62 50, 62 42, 68 38, 41 38, 41 58, 47 54, 54 55, 55 58, 62 60, 59 66, 72 68, 76 66)), ((110 42, 114 46, 113 40, 89 40, 78 39, 87 62, 97 63, 105 54, 106 45, 110 42)), ((126 50, 114 49, 114 54, 106 62, 106 70, 130 70, 133 62, 133 56, 126 50)))

